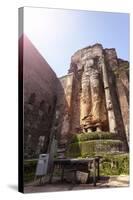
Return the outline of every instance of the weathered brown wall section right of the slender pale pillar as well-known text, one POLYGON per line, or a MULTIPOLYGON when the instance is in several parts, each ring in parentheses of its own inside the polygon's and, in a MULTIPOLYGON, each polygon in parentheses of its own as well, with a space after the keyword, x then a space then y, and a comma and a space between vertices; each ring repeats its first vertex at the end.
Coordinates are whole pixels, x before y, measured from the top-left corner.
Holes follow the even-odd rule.
POLYGON ((122 85, 122 74, 126 75, 125 69, 121 69, 120 60, 117 58, 115 49, 105 49, 105 64, 107 67, 107 73, 109 77, 109 86, 112 99, 112 106, 115 114, 116 121, 116 131, 120 135, 121 139, 125 141, 128 140, 128 103, 125 101, 125 96, 128 98, 128 79, 126 77, 125 91, 124 84, 122 85), (121 78, 120 78, 121 77, 121 78), (124 114, 126 114, 124 116, 124 114), (125 122, 125 123, 124 123, 125 122))

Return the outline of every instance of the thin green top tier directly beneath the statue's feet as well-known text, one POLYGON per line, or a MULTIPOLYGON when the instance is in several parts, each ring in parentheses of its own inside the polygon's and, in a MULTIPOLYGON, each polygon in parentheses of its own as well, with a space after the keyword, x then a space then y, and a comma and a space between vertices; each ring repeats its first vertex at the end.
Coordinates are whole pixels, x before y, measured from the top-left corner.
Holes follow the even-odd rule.
POLYGON ((75 134, 71 143, 88 141, 88 140, 101 140, 101 139, 117 139, 118 135, 109 132, 92 132, 92 133, 81 133, 75 134))

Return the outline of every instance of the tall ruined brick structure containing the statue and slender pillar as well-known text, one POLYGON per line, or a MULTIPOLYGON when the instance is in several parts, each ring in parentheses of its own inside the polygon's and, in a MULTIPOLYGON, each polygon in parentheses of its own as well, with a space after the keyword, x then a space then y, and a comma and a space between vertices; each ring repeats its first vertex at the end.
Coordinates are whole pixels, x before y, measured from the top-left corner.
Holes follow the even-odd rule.
POLYGON ((65 93, 71 99, 69 135, 109 131, 127 143, 127 64, 117 58, 115 49, 103 49, 101 44, 80 49, 71 57, 72 91, 65 93))

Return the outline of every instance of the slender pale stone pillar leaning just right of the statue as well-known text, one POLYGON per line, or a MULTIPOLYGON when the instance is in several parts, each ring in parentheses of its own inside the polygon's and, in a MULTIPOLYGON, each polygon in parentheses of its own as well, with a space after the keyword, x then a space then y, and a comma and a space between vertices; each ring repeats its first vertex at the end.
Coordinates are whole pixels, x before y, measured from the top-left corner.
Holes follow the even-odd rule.
POLYGON ((109 131, 111 133, 116 133, 116 120, 115 120, 115 115, 114 115, 114 110, 113 110, 113 105, 112 105, 112 100, 111 100, 111 95, 110 95, 107 69, 106 69, 103 57, 100 58, 100 64, 102 67, 105 100, 106 100, 106 107, 107 107, 108 121, 109 121, 109 131))

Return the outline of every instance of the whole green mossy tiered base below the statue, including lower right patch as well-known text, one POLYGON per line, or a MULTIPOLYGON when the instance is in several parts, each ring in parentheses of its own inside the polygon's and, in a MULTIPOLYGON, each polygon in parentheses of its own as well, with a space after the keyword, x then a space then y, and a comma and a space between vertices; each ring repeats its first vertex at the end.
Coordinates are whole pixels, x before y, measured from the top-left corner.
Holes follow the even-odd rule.
POLYGON ((81 133, 72 137, 66 156, 86 158, 102 156, 102 176, 129 174, 129 155, 123 152, 123 142, 109 132, 81 133))

